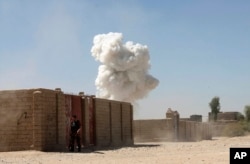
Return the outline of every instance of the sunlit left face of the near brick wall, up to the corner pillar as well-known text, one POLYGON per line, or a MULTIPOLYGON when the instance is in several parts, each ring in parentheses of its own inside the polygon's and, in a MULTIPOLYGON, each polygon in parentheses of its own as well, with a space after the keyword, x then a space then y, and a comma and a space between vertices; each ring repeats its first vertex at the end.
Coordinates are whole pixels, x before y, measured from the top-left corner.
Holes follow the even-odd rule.
POLYGON ((30 149, 33 145, 32 91, 1 91, 0 109, 0 151, 30 149))

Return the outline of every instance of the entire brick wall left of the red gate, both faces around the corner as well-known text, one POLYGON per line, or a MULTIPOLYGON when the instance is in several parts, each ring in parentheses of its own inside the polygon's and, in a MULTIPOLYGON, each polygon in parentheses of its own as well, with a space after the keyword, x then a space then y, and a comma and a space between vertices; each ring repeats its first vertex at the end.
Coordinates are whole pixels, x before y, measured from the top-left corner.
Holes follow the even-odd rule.
POLYGON ((0 91, 0 104, 0 151, 52 150, 65 143, 61 92, 0 91))

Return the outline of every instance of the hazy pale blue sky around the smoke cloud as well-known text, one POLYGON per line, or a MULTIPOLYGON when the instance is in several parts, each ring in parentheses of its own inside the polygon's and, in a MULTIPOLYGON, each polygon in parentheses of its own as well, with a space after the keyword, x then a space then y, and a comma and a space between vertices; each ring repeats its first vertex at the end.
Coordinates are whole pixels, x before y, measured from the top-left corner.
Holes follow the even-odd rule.
POLYGON ((100 63, 93 38, 119 32, 147 45, 160 83, 134 106, 134 119, 206 119, 250 104, 250 1, 0 0, 0 90, 60 87, 95 94, 100 63))

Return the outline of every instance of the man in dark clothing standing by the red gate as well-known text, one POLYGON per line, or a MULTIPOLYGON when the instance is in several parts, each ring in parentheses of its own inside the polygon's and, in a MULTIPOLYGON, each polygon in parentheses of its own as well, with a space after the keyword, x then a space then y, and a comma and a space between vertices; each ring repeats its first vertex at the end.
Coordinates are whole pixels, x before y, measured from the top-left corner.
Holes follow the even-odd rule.
POLYGON ((81 142, 80 142, 80 121, 76 119, 76 115, 71 117, 70 121, 70 141, 69 141, 69 151, 74 151, 75 141, 77 143, 78 152, 81 151, 81 142))

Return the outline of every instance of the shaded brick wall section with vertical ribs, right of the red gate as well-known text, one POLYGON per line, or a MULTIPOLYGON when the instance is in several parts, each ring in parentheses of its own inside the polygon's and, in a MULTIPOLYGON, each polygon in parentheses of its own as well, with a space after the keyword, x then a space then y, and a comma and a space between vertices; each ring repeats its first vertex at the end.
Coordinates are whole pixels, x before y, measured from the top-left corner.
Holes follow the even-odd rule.
POLYGON ((133 144, 132 116, 129 103, 95 98, 96 146, 133 144))

